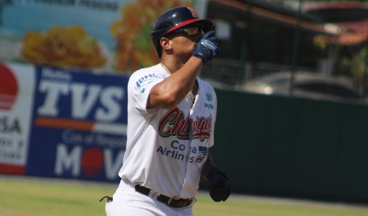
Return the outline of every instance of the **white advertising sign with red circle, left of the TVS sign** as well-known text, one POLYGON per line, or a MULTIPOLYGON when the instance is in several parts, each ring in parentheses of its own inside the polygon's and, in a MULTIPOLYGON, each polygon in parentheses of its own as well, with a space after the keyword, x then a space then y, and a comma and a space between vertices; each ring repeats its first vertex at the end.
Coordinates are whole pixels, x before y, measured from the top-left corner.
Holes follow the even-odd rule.
POLYGON ((32 67, 0 62, 0 173, 25 173, 34 79, 32 67))

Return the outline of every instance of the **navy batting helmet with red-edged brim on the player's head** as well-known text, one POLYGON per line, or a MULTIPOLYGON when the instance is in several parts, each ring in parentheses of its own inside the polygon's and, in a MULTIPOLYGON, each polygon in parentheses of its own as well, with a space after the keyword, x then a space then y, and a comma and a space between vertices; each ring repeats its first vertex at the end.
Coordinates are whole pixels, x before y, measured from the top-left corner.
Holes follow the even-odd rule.
POLYGON ((209 31, 213 26, 210 20, 199 19, 195 10, 190 7, 175 7, 161 14, 151 30, 151 39, 158 58, 161 58, 161 46, 159 44, 161 37, 193 23, 202 25, 204 32, 209 31))

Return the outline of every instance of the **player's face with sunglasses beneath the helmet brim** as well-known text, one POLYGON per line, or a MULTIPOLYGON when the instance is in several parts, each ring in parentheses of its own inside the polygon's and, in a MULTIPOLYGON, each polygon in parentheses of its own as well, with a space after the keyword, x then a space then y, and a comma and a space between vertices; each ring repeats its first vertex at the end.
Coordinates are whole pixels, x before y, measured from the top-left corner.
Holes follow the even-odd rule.
POLYGON ((170 34, 174 54, 188 59, 202 37, 203 30, 200 26, 189 26, 174 31, 170 34))

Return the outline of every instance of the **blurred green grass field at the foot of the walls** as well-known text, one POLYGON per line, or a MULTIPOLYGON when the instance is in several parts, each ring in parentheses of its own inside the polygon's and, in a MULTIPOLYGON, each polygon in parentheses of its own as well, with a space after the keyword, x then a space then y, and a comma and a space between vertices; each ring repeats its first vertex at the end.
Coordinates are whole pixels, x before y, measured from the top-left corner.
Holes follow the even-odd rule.
MULTIPOLYGON (((0 175, 0 216, 104 216, 117 185, 0 175)), ((201 192, 194 216, 368 216, 368 206, 232 195, 216 203, 201 192)))

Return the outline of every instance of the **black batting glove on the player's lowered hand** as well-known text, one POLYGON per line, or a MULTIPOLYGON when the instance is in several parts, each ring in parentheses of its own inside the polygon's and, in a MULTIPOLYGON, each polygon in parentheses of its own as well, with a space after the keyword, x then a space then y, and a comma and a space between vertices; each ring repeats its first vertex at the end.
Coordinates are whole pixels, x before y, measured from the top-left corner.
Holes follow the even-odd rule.
POLYGON ((215 202, 225 201, 231 193, 231 183, 225 173, 213 167, 208 175, 210 181, 210 197, 215 202))

